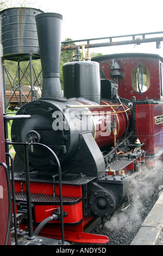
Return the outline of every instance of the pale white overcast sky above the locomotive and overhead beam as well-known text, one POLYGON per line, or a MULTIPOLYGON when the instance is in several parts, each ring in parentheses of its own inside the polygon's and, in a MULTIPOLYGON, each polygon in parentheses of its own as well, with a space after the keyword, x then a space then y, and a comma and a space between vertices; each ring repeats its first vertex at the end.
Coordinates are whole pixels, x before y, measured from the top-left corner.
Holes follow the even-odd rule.
MULTIPOLYGON (((39 0, 35 1, 33 8, 63 16, 61 40, 64 41, 65 38, 77 40, 163 31, 162 3, 162 0, 39 0)), ((148 43, 135 47, 94 48, 91 51, 104 54, 150 52, 163 57, 163 42, 161 49, 156 49, 155 43, 148 43)))

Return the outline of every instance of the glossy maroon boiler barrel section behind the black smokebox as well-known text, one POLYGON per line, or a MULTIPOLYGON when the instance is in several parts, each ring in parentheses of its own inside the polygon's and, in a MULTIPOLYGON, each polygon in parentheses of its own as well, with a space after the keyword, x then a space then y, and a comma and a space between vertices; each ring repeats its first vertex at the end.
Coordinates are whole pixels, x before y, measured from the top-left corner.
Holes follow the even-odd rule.
MULTIPOLYGON (((83 105, 87 105, 86 102, 83 100, 77 100, 78 102, 82 103, 83 105)), ((111 127, 108 126, 112 122, 112 118, 116 118, 116 129, 117 135, 116 139, 120 139, 123 137, 124 133, 127 129, 127 118, 126 113, 129 120, 129 126, 131 124, 131 112, 130 109, 123 104, 123 107, 126 111, 124 112, 123 108, 119 103, 111 103, 106 100, 102 100, 102 107, 93 106, 86 107, 89 113, 92 115, 93 123, 94 123, 94 135, 95 141, 99 148, 103 148, 107 145, 110 145, 114 142, 114 135, 112 133, 111 127), (106 129, 107 127, 107 129, 106 129)))

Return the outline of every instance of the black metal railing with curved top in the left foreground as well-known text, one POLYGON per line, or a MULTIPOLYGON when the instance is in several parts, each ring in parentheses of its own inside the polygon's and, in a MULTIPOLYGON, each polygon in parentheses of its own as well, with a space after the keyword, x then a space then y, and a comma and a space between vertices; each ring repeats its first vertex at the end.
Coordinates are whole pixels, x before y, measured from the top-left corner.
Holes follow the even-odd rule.
MULTIPOLYGON (((28 219, 28 239, 29 240, 33 240, 35 238, 34 233, 33 233, 33 217, 32 217, 32 204, 31 204, 31 194, 30 194, 30 176, 29 176, 29 156, 28 156, 28 147, 33 145, 33 146, 40 146, 40 147, 44 147, 47 150, 49 150, 49 152, 53 155, 53 157, 55 158, 56 162, 57 162, 57 166, 58 166, 58 177, 59 177, 59 197, 60 197, 60 221, 61 221, 61 244, 65 243, 65 238, 64 238, 64 214, 63 214, 63 203, 62 203, 62 181, 61 181, 61 166, 60 166, 60 162, 59 159, 57 157, 57 155, 54 153, 54 151, 49 148, 47 145, 45 144, 41 144, 41 143, 28 143, 28 142, 11 142, 8 139, 8 121, 9 120, 13 120, 13 119, 27 119, 30 118, 30 115, 4 115, 4 130, 5 130, 5 151, 6 151, 6 155, 8 157, 10 157, 11 159, 11 184, 12 184, 12 200, 13 200, 13 215, 14 215, 14 225, 15 225, 15 245, 17 245, 18 241, 17 241, 17 224, 16 224, 16 204, 15 204, 15 185, 14 185, 14 161, 12 159, 12 156, 9 154, 9 145, 22 145, 24 147, 24 167, 25 167, 25 174, 26 174, 26 193, 27 193, 27 219, 28 219)), ((5 164, 4 168, 6 169, 6 172, 8 172, 9 175, 9 169, 10 169, 10 164, 9 164, 9 160, 7 157, 7 164, 5 164)), ((1 164, 1 163, 0 163, 1 164)), ((8 178, 9 179, 9 178, 8 178)), ((10 182, 8 182, 10 185, 10 182)), ((9 190, 9 199, 11 199, 10 195, 11 195, 11 190, 10 190, 10 186, 8 185, 8 190, 9 190)), ((10 204, 11 200, 9 200, 9 204, 10 204)), ((10 206, 10 205, 9 205, 10 206)), ((9 212, 9 224, 8 227, 10 228, 11 225, 11 207, 9 208, 10 212, 9 212)), ((6 243, 8 242, 8 236, 6 239, 6 243)))

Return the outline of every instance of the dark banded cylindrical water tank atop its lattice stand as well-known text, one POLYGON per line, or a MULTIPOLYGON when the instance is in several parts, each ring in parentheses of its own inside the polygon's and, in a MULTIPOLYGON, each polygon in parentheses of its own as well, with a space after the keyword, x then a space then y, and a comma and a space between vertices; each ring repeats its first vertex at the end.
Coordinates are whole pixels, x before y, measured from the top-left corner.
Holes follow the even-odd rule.
POLYGON ((1 11, 3 58, 28 60, 40 58, 35 16, 43 13, 33 8, 9 8, 1 11))

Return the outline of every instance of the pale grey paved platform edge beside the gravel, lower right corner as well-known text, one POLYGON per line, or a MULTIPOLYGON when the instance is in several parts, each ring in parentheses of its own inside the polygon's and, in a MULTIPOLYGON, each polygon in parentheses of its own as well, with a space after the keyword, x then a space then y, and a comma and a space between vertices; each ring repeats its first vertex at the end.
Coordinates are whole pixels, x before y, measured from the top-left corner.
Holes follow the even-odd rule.
MULTIPOLYGON (((130 245, 155 245, 163 229, 163 192, 130 245)), ((163 237, 162 237, 163 245, 163 237)))

